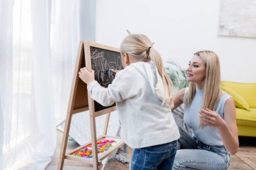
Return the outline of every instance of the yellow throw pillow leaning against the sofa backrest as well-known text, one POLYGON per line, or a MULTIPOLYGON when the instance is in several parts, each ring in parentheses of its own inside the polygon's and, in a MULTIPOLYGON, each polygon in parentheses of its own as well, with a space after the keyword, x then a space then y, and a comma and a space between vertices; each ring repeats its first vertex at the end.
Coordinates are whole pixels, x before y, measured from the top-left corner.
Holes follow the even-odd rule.
POLYGON ((247 101, 241 95, 236 93, 236 91, 233 91, 228 87, 222 87, 222 89, 226 91, 226 93, 232 96, 232 98, 234 99, 234 102, 236 103, 236 108, 250 110, 249 104, 247 103, 247 101))

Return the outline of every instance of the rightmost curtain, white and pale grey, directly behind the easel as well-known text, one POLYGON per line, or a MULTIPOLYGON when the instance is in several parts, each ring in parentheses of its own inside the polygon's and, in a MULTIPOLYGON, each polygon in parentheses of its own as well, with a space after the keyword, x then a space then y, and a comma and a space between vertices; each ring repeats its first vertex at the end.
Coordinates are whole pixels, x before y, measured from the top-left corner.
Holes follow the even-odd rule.
POLYGON ((80 40, 95 40, 96 1, 53 1, 51 59, 56 124, 65 120, 80 40))

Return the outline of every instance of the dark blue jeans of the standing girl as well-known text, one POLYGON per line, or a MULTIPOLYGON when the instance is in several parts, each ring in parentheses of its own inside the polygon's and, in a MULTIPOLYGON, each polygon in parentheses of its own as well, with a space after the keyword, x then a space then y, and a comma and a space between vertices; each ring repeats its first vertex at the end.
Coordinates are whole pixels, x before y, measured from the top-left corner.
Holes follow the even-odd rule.
POLYGON ((131 160, 131 170, 172 169, 177 150, 177 140, 166 144, 135 148, 131 160))

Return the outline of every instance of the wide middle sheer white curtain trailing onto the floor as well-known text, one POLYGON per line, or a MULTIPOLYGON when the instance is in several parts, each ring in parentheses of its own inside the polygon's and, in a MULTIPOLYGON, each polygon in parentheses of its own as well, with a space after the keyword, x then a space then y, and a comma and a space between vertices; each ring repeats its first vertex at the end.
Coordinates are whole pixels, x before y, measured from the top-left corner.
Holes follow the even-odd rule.
POLYGON ((5 169, 45 169, 56 147, 51 4, 22 0, 13 5, 13 145, 5 169))

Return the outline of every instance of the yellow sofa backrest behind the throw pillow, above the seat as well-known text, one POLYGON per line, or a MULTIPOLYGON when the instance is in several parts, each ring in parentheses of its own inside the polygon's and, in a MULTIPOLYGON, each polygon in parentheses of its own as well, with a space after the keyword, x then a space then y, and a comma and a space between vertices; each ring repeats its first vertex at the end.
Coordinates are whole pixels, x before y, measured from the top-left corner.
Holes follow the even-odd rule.
POLYGON ((222 86, 236 91, 247 101, 250 108, 256 108, 256 83, 222 81, 222 86))

